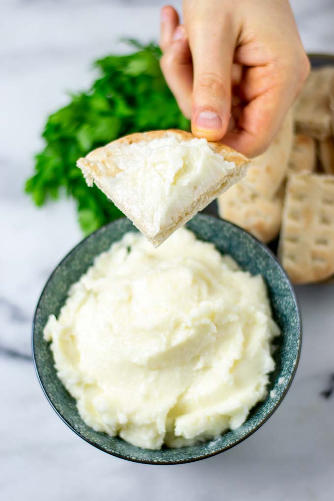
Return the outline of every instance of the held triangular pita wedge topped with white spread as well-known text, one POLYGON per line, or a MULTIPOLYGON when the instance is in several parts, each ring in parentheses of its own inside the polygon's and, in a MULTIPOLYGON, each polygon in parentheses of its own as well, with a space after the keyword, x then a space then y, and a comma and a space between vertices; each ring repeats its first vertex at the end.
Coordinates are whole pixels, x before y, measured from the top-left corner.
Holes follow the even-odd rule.
POLYGON ((249 160, 189 132, 131 134, 77 162, 137 228, 158 246, 220 193, 239 181, 249 160))

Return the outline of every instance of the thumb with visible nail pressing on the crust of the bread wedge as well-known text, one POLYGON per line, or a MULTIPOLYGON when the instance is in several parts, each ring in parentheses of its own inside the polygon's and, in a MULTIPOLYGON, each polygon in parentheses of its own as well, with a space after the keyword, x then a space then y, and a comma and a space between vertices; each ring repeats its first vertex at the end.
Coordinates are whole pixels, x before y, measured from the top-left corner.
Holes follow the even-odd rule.
POLYGON ((231 116, 231 70, 236 37, 229 16, 217 4, 185 10, 185 26, 193 61, 191 127, 197 137, 218 141, 231 116))

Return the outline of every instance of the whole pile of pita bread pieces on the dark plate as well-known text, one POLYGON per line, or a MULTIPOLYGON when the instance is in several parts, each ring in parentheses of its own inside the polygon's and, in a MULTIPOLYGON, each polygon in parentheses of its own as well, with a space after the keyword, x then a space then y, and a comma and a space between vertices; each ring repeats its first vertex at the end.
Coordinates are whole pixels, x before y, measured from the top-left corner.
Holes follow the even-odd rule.
POLYGON ((269 149, 218 197, 221 217, 267 243, 296 284, 334 276, 334 68, 312 70, 269 149))

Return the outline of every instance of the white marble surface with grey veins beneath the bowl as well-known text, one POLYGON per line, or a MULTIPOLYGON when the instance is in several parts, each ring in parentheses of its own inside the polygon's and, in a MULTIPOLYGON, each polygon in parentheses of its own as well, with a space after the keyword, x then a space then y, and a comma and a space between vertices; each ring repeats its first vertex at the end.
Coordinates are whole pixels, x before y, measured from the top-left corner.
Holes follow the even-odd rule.
MULTIPOLYGON (((174 5, 180 5, 180 2, 174 5)), ((48 405, 31 357, 31 322, 50 272, 81 239, 70 200, 34 207, 23 194, 47 115, 85 88, 90 62, 125 51, 121 36, 158 35, 161 2, 1 2, 0 498, 76 501, 329 501, 334 497, 334 286, 297 288, 297 375, 269 421, 243 443, 192 464, 146 466, 94 449, 48 405)), ((306 49, 334 53, 334 2, 296 0, 306 49)))

